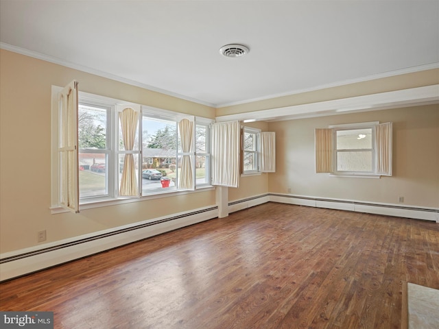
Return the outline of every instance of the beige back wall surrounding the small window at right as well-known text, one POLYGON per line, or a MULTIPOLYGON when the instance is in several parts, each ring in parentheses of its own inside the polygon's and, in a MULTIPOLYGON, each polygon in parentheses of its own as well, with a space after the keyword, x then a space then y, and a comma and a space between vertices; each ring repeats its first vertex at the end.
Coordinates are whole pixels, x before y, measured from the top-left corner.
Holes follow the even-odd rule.
POLYGON ((335 115, 313 119, 278 121, 276 173, 270 173, 269 191, 311 197, 364 202, 439 207, 439 105, 418 106, 335 115), (393 175, 370 178, 338 178, 315 173, 314 128, 368 121, 393 122, 393 175))

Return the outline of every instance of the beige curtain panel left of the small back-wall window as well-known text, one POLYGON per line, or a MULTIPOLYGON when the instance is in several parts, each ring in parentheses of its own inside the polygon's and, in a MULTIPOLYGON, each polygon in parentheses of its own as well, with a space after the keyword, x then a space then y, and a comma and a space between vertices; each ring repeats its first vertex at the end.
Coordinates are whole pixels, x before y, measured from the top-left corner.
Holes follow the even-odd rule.
POLYGON ((316 173, 333 172, 333 130, 314 130, 316 144, 316 173))

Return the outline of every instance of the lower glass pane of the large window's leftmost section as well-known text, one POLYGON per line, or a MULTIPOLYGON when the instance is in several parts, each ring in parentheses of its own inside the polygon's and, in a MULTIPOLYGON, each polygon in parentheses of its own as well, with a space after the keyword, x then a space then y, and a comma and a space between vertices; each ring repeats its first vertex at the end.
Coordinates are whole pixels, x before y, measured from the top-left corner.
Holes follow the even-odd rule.
POLYGON ((80 153, 80 198, 97 197, 108 194, 106 154, 80 153))

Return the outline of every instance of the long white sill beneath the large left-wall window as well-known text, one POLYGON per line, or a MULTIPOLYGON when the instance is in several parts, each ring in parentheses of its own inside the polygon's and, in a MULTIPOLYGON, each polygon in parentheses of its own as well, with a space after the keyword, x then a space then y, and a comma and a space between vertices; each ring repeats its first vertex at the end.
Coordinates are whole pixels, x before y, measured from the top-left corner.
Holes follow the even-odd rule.
MULTIPOLYGON (((161 197, 174 197, 176 195, 184 195, 184 194, 190 194, 190 193, 200 193, 204 191, 211 191, 215 189, 215 186, 206 185, 206 186, 200 186, 195 191, 163 191, 161 193, 154 193, 152 195, 143 195, 141 197, 130 197, 130 198, 123 198, 119 197, 118 199, 95 199, 91 202, 84 202, 80 204, 80 211, 87 210, 87 209, 93 209, 93 208, 102 208, 102 207, 108 207, 108 206, 116 206, 118 204, 130 204, 132 202, 142 202, 152 199, 159 199, 161 197)), ((66 210, 60 206, 51 206, 50 208, 51 214, 60 214, 62 212, 69 212, 69 210, 66 210)))

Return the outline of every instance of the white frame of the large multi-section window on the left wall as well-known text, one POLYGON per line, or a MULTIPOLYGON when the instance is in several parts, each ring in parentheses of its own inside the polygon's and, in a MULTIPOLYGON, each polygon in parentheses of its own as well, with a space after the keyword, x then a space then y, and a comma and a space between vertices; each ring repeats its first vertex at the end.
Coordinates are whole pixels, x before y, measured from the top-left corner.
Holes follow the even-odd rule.
MULTIPOLYGON (((52 86, 51 88, 51 213, 59 213, 59 212, 67 212, 62 208, 59 204, 59 195, 60 195, 60 161, 58 160, 58 132, 60 131, 60 121, 58 115, 58 94, 63 89, 60 86, 52 86)), ((153 108, 151 106, 144 106, 141 104, 135 104, 127 101, 122 101, 120 99, 113 99, 111 97, 104 97, 101 95, 86 93, 84 91, 78 91, 78 104, 84 104, 88 106, 93 106, 97 108, 107 108, 110 113, 107 113, 107 123, 106 123, 106 138, 107 138, 107 149, 106 152, 108 154, 108 163, 106 169, 107 175, 107 189, 108 193, 106 195, 99 195, 97 197, 82 197, 79 200, 80 209, 87 208, 96 208, 101 206, 110 206, 114 204, 123 204, 127 202, 138 202, 145 199, 155 199, 157 197, 166 197, 169 195, 180 195, 187 193, 196 193, 197 191, 206 191, 206 188, 214 188, 211 185, 211 154, 210 154, 210 125, 214 122, 213 119, 208 119, 204 117, 195 117, 191 114, 185 114, 180 112, 174 112, 169 110, 163 110, 160 108, 153 108), (120 164, 119 164, 119 154, 125 154, 126 151, 120 151, 118 146, 119 141, 119 119, 118 119, 118 111, 117 106, 140 106, 141 115, 139 115, 139 195, 136 197, 125 197, 120 196, 118 194, 119 191, 119 173, 120 164), (191 121, 194 121, 193 129, 194 129, 194 143, 195 143, 195 133, 197 125, 204 125, 206 127, 206 181, 203 184, 196 184, 196 178, 194 182, 194 190, 180 189, 176 188, 173 190, 168 190, 167 188, 160 189, 153 193, 142 193, 142 178, 141 178, 141 165, 143 158, 143 150, 142 150, 142 119, 144 113, 148 113, 148 117, 154 117, 156 119, 169 119, 172 118, 171 121, 176 122, 178 125, 178 121, 182 118, 191 118, 191 121), (109 149, 108 149, 109 148, 109 149), (107 151, 108 150, 108 151, 107 151), (114 162, 114 163, 113 163, 114 162)), ((78 123, 77 123, 78 125, 78 123)), ((77 128, 78 129, 78 128, 77 128)), ((195 145, 195 144, 194 144, 195 145)), ((80 150, 78 150, 80 151, 80 150)), ((177 151, 177 150, 176 150, 177 151)), ((99 151, 100 152, 100 151, 99 151)), ((197 153, 195 152, 195 158, 197 153)), ((177 156, 177 153, 176 153, 177 156)), ((168 159, 169 160, 169 159, 168 159)), ((79 166, 79 161, 78 161, 79 166)), ((195 162, 193 162, 193 171, 196 171, 195 162)), ((78 178, 79 184, 79 178, 78 178)))

